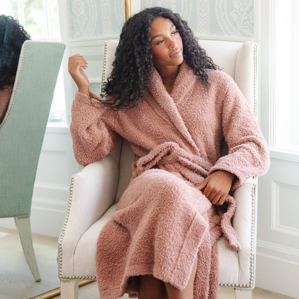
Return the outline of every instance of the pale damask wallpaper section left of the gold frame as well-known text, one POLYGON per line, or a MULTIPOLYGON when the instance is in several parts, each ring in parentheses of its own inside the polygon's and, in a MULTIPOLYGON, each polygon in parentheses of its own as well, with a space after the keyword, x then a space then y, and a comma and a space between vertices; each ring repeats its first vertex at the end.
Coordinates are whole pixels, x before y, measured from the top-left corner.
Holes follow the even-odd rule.
POLYGON ((124 0, 69 0, 72 38, 119 35, 124 0))

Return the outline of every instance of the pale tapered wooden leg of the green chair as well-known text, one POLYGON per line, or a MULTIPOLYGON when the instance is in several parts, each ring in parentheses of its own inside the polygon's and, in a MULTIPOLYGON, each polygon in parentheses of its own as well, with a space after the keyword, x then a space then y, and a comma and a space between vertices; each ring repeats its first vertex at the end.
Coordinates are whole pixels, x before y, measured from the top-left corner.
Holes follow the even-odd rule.
POLYGON ((24 256, 29 266, 29 269, 36 282, 40 281, 40 276, 37 268, 37 263, 34 255, 31 228, 30 228, 30 217, 15 217, 16 228, 18 230, 21 245, 23 248, 24 256))

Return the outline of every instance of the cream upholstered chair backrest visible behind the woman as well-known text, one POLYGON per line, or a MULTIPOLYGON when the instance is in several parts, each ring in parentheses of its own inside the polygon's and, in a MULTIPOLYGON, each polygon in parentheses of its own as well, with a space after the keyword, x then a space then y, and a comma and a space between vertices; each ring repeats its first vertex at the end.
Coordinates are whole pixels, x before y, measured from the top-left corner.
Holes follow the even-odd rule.
MULTIPOLYGON (((257 44, 254 42, 234 42, 219 40, 199 40, 199 44, 206 50, 224 72, 228 73, 237 83, 246 97, 253 113, 257 114, 257 44)), ((118 40, 109 40, 105 43, 103 81, 105 82, 112 70, 118 40)), ((122 141, 121 149, 116 149, 113 154, 120 152, 119 183, 115 202, 118 202, 132 176, 131 164, 134 153, 127 141, 122 141)))

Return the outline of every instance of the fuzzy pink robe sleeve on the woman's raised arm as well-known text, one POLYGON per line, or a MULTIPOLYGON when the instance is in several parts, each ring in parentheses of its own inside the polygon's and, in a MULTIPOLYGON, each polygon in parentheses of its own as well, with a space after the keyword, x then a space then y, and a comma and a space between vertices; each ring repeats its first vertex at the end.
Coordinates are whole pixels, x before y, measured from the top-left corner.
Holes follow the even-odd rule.
MULTIPOLYGON (((72 103, 73 150, 77 162, 83 166, 107 155, 120 140, 111 125, 105 122, 107 108, 97 98, 93 93, 88 97, 77 91, 72 103)), ((111 123, 113 120, 110 119, 111 123)))

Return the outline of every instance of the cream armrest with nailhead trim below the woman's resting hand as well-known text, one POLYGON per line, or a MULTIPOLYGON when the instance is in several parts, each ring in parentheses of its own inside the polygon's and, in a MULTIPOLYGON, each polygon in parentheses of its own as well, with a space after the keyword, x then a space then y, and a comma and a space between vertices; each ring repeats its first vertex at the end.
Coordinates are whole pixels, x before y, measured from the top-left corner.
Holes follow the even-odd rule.
POLYGON ((233 227, 237 231, 241 249, 238 251, 240 265, 240 281, 249 282, 254 267, 256 238, 256 198, 255 178, 248 178, 233 194, 237 208, 233 217, 233 227))

